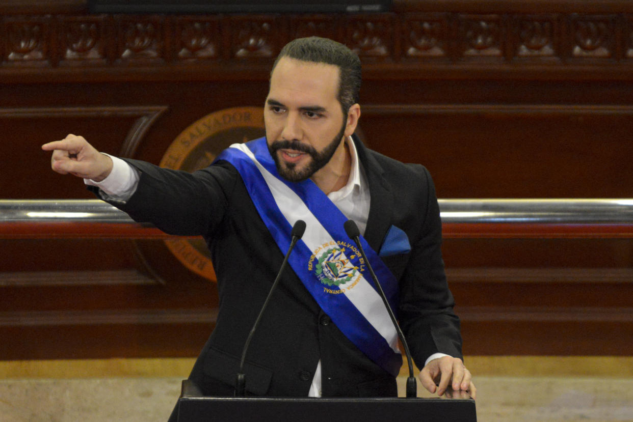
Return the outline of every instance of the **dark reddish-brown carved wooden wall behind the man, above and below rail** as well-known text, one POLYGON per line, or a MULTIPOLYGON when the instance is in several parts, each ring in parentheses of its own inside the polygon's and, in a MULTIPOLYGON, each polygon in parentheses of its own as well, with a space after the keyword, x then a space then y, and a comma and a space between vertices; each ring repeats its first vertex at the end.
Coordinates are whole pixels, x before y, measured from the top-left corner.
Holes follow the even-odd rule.
MULTIPOLYGON (((159 163, 194 121, 260 106, 298 36, 363 61, 361 135, 439 197, 630 197, 633 3, 394 1, 391 13, 89 15, 0 5, 0 197, 89 198, 39 146, 159 163)), ((195 356, 212 282, 160 240, 0 240, 0 359, 195 356), (4 340, 8 339, 8 340, 4 340)), ((629 239, 446 239, 468 354, 628 354, 629 239), (534 333, 540 342, 534 342, 534 333)))

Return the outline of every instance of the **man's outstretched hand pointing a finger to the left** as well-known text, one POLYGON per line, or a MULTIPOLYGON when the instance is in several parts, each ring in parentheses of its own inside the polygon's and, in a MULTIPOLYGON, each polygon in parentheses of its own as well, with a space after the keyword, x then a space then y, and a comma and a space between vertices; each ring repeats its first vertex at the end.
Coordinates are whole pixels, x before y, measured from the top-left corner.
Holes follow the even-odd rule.
POLYGON ((51 168, 62 175, 101 182, 112 171, 112 159, 94 149, 81 136, 68 135, 65 139, 42 145, 42 149, 53 151, 51 168))

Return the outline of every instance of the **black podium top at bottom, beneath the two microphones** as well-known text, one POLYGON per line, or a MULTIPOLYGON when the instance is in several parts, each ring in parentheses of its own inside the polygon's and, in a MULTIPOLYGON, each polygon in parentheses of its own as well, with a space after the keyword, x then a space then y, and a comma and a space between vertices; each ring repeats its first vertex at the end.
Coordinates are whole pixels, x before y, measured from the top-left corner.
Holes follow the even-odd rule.
POLYGON ((477 422, 473 399, 203 397, 182 382, 179 422, 477 422))

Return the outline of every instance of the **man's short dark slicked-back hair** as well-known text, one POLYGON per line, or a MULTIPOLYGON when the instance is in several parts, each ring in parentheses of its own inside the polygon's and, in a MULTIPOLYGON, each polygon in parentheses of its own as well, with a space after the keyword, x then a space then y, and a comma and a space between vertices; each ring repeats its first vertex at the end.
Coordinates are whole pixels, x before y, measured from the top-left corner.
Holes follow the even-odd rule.
POLYGON ((344 115, 347 115, 349 108, 358 102, 361 82, 360 59, 340 42, 320 37, 292 40, 281 49, 272 70, 275 70, 279 60, 284 57, 338 66, 340 76, 337 99, 341 103, 344 115))

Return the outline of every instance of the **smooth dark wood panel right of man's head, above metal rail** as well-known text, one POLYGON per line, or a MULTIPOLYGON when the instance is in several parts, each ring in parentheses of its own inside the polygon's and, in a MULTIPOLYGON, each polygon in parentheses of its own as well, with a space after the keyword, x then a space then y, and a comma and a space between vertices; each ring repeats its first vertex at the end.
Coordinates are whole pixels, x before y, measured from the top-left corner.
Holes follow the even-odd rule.
POLYGON ((633 185, 632 106, 368 104, 362 113, 367 142, 425 164, 444 198, 628 197, 633 185), (384 133, 399 142, 381 142, 384 133))

